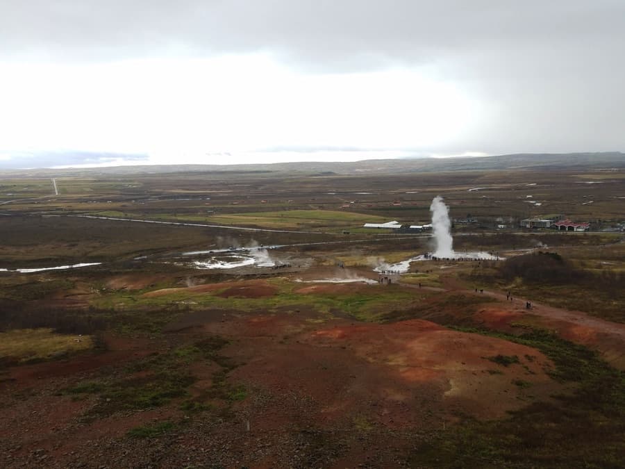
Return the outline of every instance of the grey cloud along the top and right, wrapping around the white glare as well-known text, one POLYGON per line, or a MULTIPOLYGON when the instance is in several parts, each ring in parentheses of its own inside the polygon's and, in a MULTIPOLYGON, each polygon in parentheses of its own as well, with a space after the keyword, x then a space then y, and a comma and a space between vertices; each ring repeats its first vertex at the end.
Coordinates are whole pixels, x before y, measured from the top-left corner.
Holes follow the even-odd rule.
POLYGON ((492 113, 486 127, 439 151, 601 151, 625 144, 622 0, 24 0, 0 6, 0 60, 259 51, 306 72, 431 66, 492 113))

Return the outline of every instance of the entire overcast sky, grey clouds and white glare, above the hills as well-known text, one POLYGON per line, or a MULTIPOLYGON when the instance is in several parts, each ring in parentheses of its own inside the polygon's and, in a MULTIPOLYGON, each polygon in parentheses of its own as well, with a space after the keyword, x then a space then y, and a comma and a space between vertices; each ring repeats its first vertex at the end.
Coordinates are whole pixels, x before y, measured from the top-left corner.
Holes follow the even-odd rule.
POLYGON ((623 0, 0 0, 0 167, 625 149, 623 0))

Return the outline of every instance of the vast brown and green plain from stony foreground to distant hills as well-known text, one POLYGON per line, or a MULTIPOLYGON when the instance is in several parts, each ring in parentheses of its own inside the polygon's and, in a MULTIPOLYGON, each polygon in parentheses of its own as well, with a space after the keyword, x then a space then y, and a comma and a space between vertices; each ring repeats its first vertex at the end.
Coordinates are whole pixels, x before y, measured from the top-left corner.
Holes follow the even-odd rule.
POLYGON ((619 467, 623 170, 357 174, 0 179, 0 466, 619 467), (363 222, 439 194, 506 261, 378 283, 431 239, 363 222), (550 213, 593 231, 517 228, 550 213))

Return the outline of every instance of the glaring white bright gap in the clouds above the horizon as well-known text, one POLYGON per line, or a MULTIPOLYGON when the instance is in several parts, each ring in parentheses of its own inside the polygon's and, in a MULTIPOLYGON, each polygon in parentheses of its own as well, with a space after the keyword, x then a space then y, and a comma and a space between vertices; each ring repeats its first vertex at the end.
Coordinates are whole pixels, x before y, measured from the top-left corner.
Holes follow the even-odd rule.
POLYGON ((302 74, 262 54, 0 63, 0 74, 0 154, 109 151, 147 154, 147 164, 391 158, 453 146, 485 113, 426 69, 302 74))

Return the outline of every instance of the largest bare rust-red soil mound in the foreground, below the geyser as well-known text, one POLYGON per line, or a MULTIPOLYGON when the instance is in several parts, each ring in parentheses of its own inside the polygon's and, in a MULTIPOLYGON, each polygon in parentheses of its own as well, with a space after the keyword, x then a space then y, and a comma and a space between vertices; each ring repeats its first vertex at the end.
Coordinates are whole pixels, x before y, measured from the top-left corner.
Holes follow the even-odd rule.
POLYGON ((234 375, 269 393, 305 395, 317 425, 369 415, 372 405, 370 418, 385 427, 428 427, 457 412, 496 418, 526 405, 512 381, 545 399, 557 388, 544 372, 552 363, 531 347, 423 320, 334 322, 311 330, 280 316, 242 320, 236 348, 246 365, 234 375), (281 334, 288 338, 276 342, 281 334), (499 354, 519 364, 488 359, 499 354))

